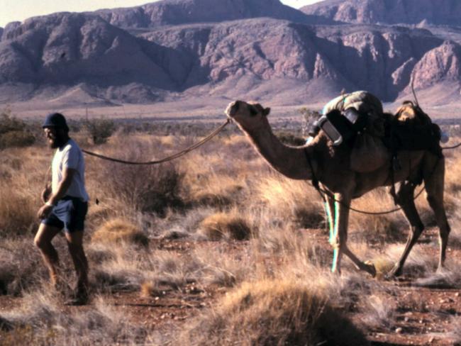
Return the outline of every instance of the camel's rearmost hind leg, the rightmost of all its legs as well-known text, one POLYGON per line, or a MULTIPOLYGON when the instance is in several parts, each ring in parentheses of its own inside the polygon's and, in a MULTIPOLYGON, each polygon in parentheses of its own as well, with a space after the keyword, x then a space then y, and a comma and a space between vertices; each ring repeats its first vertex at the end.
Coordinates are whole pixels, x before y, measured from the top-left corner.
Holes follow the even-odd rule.
POLYGON ((426 185, 426 199, 435 214, 435 221, 439 228, 440 255, 438 270, 443 268, 445 251, 447 249, 450 225, 448 224, 445 206, 443 205, 443 189, 445 185, 445 159, 430 156, 424 160, 424 184, 426 185), (434 160, 435 159, 435 160, 434 160))

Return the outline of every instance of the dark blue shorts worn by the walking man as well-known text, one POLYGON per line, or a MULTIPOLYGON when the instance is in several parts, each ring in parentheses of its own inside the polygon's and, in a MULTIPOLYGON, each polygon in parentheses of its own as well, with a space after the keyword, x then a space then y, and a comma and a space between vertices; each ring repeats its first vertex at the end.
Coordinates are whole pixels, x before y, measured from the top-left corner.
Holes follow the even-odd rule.
POLYGON ((65 196, 52 208, 48 218, 42 223, 56 228, 64 228, 65 232, 72 233, 84 229, 85 216, 87 216, 88 202, 77 197, 65 196))

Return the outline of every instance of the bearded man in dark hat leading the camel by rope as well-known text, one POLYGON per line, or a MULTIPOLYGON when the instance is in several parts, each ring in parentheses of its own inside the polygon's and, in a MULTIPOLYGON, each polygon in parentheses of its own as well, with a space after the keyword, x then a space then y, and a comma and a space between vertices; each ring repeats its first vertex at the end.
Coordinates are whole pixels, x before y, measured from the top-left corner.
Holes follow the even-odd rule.
POLYGON ((51 283, 57 288, 60 284, 59 259, 51 240, 64 229, 78 277, 77 289, 69 303, 83 305, 88 301, 88 262, 83 250, 83 230, 89 199, 84 181, 84 157, 77 143, 69 137, 62 114, 48 115, 42 127, 48 144, 56 152, 51 165, 52 184, 43 190, 44 204, 37 213, 42 222, 34 242, 50 271, 51 283))

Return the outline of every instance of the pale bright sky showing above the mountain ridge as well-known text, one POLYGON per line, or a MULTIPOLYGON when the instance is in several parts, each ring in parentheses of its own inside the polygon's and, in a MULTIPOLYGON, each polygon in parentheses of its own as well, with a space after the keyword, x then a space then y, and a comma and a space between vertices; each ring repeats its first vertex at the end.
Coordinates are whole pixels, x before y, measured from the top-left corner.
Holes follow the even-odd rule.
MULTIPOLYGON (((97 9, 131 7, 154 2, 155 0, 0 0, 0 27, 11 21, 23 21, 33 16, 54 12, 83 12, 97 9)), ((282 3, 299 9, 320 0, 281 0, 282 3)))

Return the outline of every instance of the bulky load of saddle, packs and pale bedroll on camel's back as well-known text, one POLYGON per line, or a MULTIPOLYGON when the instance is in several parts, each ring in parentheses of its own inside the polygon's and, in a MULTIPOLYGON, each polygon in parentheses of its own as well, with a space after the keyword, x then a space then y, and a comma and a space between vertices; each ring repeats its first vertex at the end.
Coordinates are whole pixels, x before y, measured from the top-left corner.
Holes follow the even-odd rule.
POLYGON ((392 116, 384 113, 379 99, 367 91, 328 102, 310 134, 319 130, 334 146, 350 147, 350 169, 359 173, 373 172, 395 161, 401 150, 430 150, 442 155, 440 128, 418 105, 405 101, 392 116))

